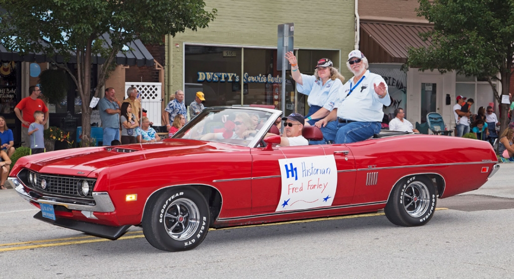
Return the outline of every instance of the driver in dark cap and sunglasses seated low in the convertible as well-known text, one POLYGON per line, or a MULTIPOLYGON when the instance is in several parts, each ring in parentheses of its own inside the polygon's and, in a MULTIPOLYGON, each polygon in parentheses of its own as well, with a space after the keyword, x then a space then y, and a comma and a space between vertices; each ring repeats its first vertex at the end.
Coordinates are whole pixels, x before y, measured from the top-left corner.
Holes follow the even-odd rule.
MULTIPOLYGON (((280 137, 279 146, 300 146, 308 145, 309 141, 302 136, 303 125, 305 120, 301 114, 290 114, 288 117, 283 117, 284 120, 284 134, 280 137)), ((272 133, 267 133, 265 138, 277 136, 272 133)))

